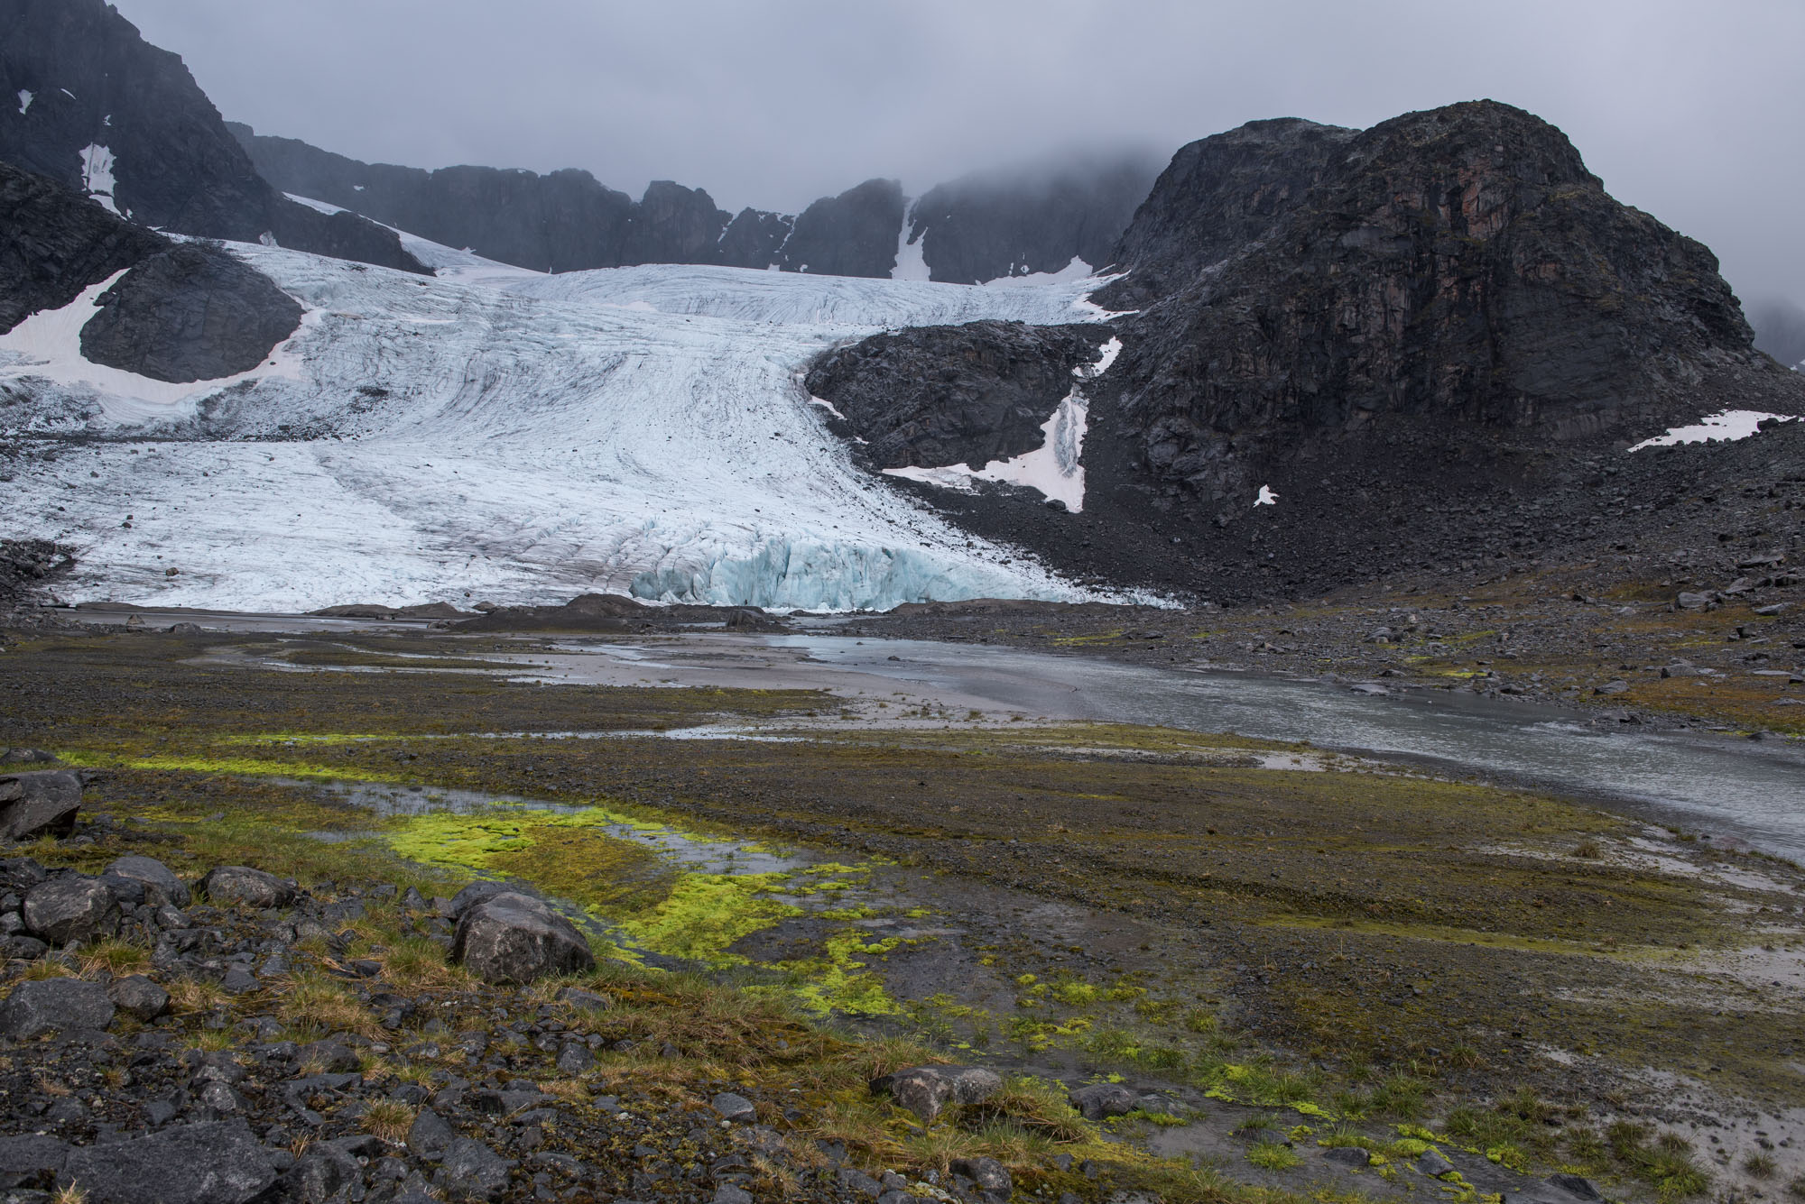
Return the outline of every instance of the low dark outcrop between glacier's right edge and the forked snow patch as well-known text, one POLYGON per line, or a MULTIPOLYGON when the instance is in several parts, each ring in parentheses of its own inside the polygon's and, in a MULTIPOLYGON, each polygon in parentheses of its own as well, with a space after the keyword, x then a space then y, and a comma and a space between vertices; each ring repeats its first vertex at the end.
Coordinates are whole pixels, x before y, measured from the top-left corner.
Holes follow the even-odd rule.
POLYGON ((1041 425, 1097 359, 1101 326, 917 326, 838 348, 807 388, 832 402, 875 469, 982 469, 1041 445, 1041 425))

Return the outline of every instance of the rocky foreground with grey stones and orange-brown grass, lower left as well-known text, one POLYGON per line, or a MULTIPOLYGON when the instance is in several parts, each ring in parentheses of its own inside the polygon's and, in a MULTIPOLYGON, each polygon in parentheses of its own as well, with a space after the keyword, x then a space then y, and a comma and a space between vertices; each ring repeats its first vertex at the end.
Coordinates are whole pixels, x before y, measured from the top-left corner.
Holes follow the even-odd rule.
MULTIPOLYGON (((81 775, 25 770, 0 779, 5 795, 7 835, 49 838, 74 831, 81 775)), ((807 1139, 794 1098, 680 1081, 670 1069, 711 1051, 652 1040, 570 919, 502 883, 426 899, 222 865, 190 885, 128 854, 99 874, 5 858, 0 890, 9 1204, 1011 1193, 989 1157, 915 1182, 866 1173, 843 1143, 807 1139), (603 1083, 597 1051, 643 1062, 603 1083)), ((695 1038, 782 1056, 780 1031, 695 1038)), ((870 1087, 922 1125, 1002 1089, 993 1071, 933 1065, 870 1087)))

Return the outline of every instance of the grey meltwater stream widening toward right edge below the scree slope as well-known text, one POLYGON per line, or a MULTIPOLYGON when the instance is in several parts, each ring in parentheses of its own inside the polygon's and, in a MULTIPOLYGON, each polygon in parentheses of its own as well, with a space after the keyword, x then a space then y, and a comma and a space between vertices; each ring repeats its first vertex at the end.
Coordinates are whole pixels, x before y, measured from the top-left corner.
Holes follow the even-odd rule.
POLYGON ((1805 862, 1805 748, 1789 741, 1587 726, 1583 712, 1455 690, 1372 696, 1321 681, 1197 672, 1007 647, 778 636, 816 661, 1063 719, 1238 732, 1319 748, 1421 757, 1563 795, 1628 802, 1650 818, 1733 833, 1805 862), (893 660, 892 660, 893 658, 893 660))

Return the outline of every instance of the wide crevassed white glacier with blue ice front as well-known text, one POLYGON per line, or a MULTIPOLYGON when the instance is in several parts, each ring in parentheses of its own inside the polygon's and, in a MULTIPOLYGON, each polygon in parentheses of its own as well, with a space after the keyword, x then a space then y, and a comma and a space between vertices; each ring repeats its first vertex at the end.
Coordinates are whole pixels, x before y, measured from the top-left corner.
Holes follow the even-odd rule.
POLYGON ((1099 281, 540 276, 406 245, 439 279, 233 245, 307 317, 226 382, 83 360, 99 287, 0 335, 0 420, 32 456, 0 483, 5 534, 78 548, 65 600, 215 609, 1096 597, 854 469, 800 373, 883 328, 1096 319, 1099 281))

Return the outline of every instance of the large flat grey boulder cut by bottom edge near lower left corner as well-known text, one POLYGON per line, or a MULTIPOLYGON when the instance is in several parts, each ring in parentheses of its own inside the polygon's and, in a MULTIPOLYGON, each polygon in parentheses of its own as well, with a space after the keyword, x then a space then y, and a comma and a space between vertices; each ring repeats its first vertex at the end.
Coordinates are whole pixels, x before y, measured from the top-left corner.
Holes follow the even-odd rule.
POLYGON ((276 1182, 269 1154, 242 1119, 164 1128, 69 1152, 60 1186, 88 1204, 247 1204, 276 1182))

